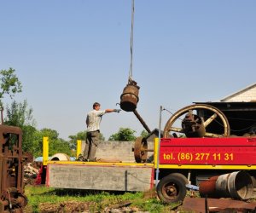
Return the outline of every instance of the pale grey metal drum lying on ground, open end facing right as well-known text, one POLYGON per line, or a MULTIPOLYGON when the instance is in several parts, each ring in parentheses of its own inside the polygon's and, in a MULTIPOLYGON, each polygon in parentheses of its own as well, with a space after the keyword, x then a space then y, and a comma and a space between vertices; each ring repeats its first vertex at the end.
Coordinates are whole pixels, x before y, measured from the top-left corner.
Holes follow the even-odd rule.
POLYGON ((224 198, 250 199, 253 196, 253 180, 246 171, 218 176, 216 193, 224 198))

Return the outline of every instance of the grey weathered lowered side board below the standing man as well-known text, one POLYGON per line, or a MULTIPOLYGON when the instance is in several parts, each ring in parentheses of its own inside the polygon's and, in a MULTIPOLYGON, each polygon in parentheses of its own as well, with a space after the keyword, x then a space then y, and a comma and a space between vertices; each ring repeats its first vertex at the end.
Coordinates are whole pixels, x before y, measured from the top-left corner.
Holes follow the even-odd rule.
POLYGON ((153 166, 48 164, 48 187, 147 191, 154 187, 153 166))

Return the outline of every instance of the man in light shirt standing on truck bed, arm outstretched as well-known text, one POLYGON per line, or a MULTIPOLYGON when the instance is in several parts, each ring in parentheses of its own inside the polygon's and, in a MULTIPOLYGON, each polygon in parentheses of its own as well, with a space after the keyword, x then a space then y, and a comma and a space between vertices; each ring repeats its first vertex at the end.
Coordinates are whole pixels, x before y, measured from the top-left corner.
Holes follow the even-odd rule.
POLYGON ((87 135, 84 147, 84 161, 96 161, 96 148, 100 142, 100 123, 102 115, 108 112, 120 112, 120 109, 106 109, 101 111, 98 102, 93 104, 93 110, 86 117, 87 135))

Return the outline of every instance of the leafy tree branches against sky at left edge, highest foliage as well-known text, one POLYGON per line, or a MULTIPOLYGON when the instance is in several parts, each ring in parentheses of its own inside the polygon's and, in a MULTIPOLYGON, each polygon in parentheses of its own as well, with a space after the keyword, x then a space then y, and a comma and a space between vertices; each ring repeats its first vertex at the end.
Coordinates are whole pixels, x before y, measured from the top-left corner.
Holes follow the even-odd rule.
POLYGON ((16 93, 22 91, 22 85, 19 79, 15 75, 15 69, 9 68, 9 70, 0 71, 0 108, 3 109, 3 95, 8 94, 12 98, 16 93))

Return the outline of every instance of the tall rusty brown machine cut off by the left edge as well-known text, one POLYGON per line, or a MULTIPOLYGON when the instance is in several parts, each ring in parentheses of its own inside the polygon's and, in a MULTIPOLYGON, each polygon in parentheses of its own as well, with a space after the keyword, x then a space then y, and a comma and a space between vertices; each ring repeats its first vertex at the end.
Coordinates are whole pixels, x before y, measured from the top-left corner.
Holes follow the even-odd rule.
POLYGON ((23 155, 22 131, 19 127, 0 125, 0 212, 23 212, 24 164, 31 156, 23 155))

